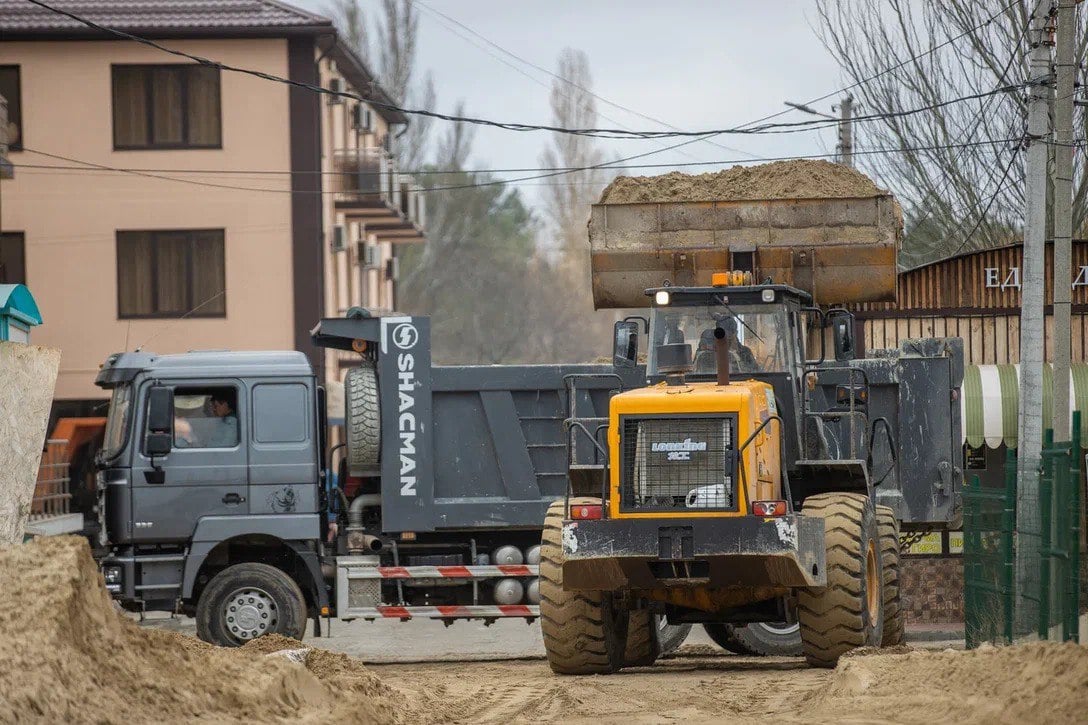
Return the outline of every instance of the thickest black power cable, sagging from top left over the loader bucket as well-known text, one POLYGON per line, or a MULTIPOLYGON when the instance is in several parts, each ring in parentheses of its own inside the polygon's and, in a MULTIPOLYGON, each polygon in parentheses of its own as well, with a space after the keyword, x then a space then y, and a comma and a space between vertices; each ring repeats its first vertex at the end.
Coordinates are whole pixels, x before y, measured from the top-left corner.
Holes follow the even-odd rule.
MULTIPOLYGON (((757 122, 752 122, 752 123, 744 124, 743 126, 737 126, 737 127, 732 127, 732 128, 717 128, 717 130, 708 130, 708 131, 627 131, 627 130, 623 130, 623 128, 565 128, 565 127, 561 127, 561 126, 545 125, 545 124, 529 124, 529 123, 503 122, 503 121, 492 121, 492 120, 489 120, 489 119, 480 119, 480 118, 473 118, 473 116, 449 115, 449 114, 445 114, 445 113, 438 113, 438 112, 435 112, 435 111, 426 111, 426 110, 422 110, 422 109, 406 109, 406 108, 401 108, 401 107, 398 107, 398 106, 394 106, 392 103, 383 103, 381 101, 376 101, 376 100, 373 100, 373 99, 363 98, 362 96, 359 96, 357 94, 351 94, 351 93, 348 93, 348 91, 338 91, 338 90, 332 90, 330 88, 322 88, 321 86, 314 86, 312 84, 302 83, 300 81, 293 81, 293 79, 289 79, 289 78, 284 78, 284 77, 277 76, 277 75, 273 75, 271 73, 265 73, 263 71, 255 71, 255 70, 251 70, 251 69, 237 67, 237 66, 228 65, 226 63, 222 63, 222 62, 219 62, 219 61, 209 60, 209 59, 202 58, 200 56, 195 56, 193 53, 187 53, 187 52, 184 52, 184 51, 181 51, 181 50, 169 48, 169 47, 163 46, 161 44, 158 44, 158 42, 156 42, 153 40, 150 40, 148 38, 141 38, 139 36, 133 35, 131 33, 125 33, 124 30, 119 30, 116 28, 111 28, 111 27, 108 27, 108 26, 104 26, 104 25, 100 25, 98 23, 95 23, 94 21, 87 20, 85 17, 82 17, 82 16, 79 16, 79 15, 77 15, 75 13, 69 12, 66 10, 61 10, 61 9, 58 9, 58 8, 53 8, 53 7, 51 7, 51 5, 42 2, 41 0, 27 0, 27 2, 30 2, 30 3, 35 4, 35 5, 38 5, 38 7, 42 8, 42 9, 45 9, 45 10, 48 10, 48 11, 53 12, 53 13, 57 13, 59 15, 64 15, 65 17, 69 17, 71 20, 73 20, 73 21, 76 21, 76 22, 78 22, 78 23, 81 23, 83 25, 86 25, 87 27, 94 28, 94 29, 99 30, 101 33, 108 33, 108 34, 112 34, 112 35, 115 35, 115 36, 121 37, 121 38, 133 40, 135 42, 139 42, 139 44, 146 45, 148 47, 156 48, 157 50, 161 50, 163 52, 170 53, 170 54, 175 56, 175 57, 187 58, 187 59, 189 59, 189 60, 191 60, 191 61, 194 61, 196 63, 199 63, 201 65, 206 65, 206 66, 209 66, 209 67, 215 67, 215 69, 219 69, 220 71, 230 71, 230 72, 234 72, 234 73, 242 73, 242 74, 245 74, 245 75, 251 75, 251 76, 255 76, 255 77, 258 77, 258 78, 262 78, 262 79, 265 79, 265 81, 273 81, 273 82, 276 82, 276 83, 283 83, 283 84, 286 84, 286 85, 289 85, 289 86, 294 86, 294 87, 306 88, 306 89, 309 89, 309 90, 311 90, 313 93, 321 94, 321 95, 334 96, 334 97, 341 97, 341 98, 349 98, 349 99, 362 101, 362 102, 368 103, 368 105, 370 105, 370 106, 372 106, 374 108, 384 108, 384 109, 387 109, 387 110, 398 111, 398 112, 405 113, 405 114, 424 115, 424 116, 429 116, 429 118, 438 119, 438 120, 442 120, 442 121, 450 121, 450 122, 456 122, 456 123, 470 123, 470 124, 475 124, 475 125, 485 125, 485 126, 492 126, 492 127, 503 128, 503 130, 506 130, 506 131, 516 131, 516 132, 547 131, 547 132, 552 132, 552 133, 582 135, 582 136, 594 136, 594 137, 598 137, 598 138, 625 138, 625 139, 627 139, 627 138, 636 138, 636 139, 650 139, 650 138, 690 137, 690 138, 693 138, 693 140, 703 140, 704 137, 708 138, 708 137, 712 137, 712 136, 719 136, 719 135, 724 135, 724 134, 756 135, 756 134, 768 134, 768 133, 769 134, 775 134, 775 133, 798 133, 799 131, 803 132, 803 131, 812 131, 812 130, 825 128, 825 127, 827 127, 829 125, 828 122, 824 121, 824 120, 812 120, 812 121, 798 121, 798 122, 791 122, 791 123, 772 123, 772 124, 771 123, 762 123, 761 125, 753 125, 754 123, 761 123, 759 121, 757 121, 757 122)), ((942 46, 943 45, 945 45, 945 44, 942 44, 942 46)), ((940 48, 942 46, 936 46, 934 49, 931 49, 930 51, 927 51, 927 52, 932 52, 934 50, 936 50, 937 48, 940 48)), ((926 53, 922 53, 922 54, 926 54, 926 53)), ((900 65, 902 65, 902 64, 900 64, 900 65)), ((889 69, 886 72, 890 72, 894 67, 898 67, 898 66, 893 66, 892 69, 889 69)), ((881 74, 878 74, 878 75, 881 75, 881 74)), ((877 77, 877 76, 874 76, 874 77, 877 77)), ((855 85, 857 85, 857 84, 855 84, 855 85)), ((850 86, 850 87, 853 87, 853 86, 850 86)), ((1005 90, 1005 89, 999 88, 999 89, 987 91, 987 93, 984 93, 984 94, 975 94, 975 95, 972 95, 972 96, 965 96, 963 98, 953 99, 953 100, 949 100, 949 101, 942 101, 942 102, 939 102, 939 103, 934 103, 934 105, 928 106, 928 107, 917 108, 917 109, 911 109, 911 110, 907 110, 907 111, 895 111, 895 112, 888 112, 888 113, 880 113, 880 114, 870 114, 870 115, 866 115, 866 116, 857 116, 857 118, 854 119, 854 121, 855 122, 861 122, 861 121, 871 121, 871 120, 887 120, 887 119, 890 119, 890 118, 912 115, 912 114, 915 114, 915 113, 922 113, 922 112, 925 112, 925 111, 928 111, 928 110, 935 110, 937 108, 942 108, 944 106, 949 106, 949 105, 955 103, 955 102, 961 102, 961 101, 965 101, 965 100, 974 100, 976 98, 982 98, 982 97, 985 97, 987 95, 990 95, 990 94, 993 94, 993 93, 1002 93, 1003 90, 1005 90)), ((836 91, 836 93, 839 93, 839 91, 836 91)), ((826 96, 824 98, 826 98, 826 96)), ((823 98, 816 99, 816 100, 817 101, 818 100, 823 100, 823 98)), ((809 101, 809 102, 816 102, 816 101, 809 101)), ((781 113, 782 112, 777 113, 775 115, 780 115, 781 113)), ((774 116, 768 116, 768 118, 774 118, 774 116)), ((763 121, 763 120, 761 120, 761 121, 763 121)), ((678 147, 672 147, 672 148, 678 148, 678 147)), ((660 149, 660 150, 668 150, 668 149, 660 149)))

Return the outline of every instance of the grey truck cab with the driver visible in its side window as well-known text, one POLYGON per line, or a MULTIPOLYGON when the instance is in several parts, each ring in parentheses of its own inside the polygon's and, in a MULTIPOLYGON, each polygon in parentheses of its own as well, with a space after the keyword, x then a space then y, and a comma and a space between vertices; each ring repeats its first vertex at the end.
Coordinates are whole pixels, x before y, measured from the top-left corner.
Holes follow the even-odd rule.
POLYGON ((301 353, 122 353, 97 384, 112 395, 97 462, 99 543, 123 605, 180 605, 239 642, 327 606, 322 393, 301 353), (227 578, 256 592, 254 605, 236 606, 233 623, 198 612, 205 589, 243 563, 248 574, 227 578))

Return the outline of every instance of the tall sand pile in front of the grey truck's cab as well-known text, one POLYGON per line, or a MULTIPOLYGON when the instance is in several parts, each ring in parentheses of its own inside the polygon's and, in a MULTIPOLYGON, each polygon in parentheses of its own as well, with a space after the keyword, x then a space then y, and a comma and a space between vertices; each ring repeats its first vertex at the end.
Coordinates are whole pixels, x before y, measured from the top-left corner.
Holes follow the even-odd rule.
POLYGON ((0 722, 413 720, 344 655, 311 650, 304 667, 141 629, 114 610, 82 539, 0 550, 0 722))

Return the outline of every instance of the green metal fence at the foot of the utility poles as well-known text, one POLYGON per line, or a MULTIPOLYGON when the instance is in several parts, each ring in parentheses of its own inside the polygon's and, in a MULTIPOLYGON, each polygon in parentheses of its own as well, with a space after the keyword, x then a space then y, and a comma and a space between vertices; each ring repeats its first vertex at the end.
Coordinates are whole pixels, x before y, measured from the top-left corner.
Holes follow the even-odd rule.
MULTIPOLYGON (((1080 595, 1080 414, 1073 440, 1043 440, 1037 511, 1016 516, 1016 453, 1005 458, 1004 484, 984 487, 978 477, 964 492, 964 626, 968 648, 1011 643, 1027 635, 1017 615, 1030 613, 1040 639, 1078 640, 1080 595), (1016 587, 1016 541, 1038 540, 1037 578, 1016 587)), ((1034 543, 1034 542, 1033 542, 1034 543)))

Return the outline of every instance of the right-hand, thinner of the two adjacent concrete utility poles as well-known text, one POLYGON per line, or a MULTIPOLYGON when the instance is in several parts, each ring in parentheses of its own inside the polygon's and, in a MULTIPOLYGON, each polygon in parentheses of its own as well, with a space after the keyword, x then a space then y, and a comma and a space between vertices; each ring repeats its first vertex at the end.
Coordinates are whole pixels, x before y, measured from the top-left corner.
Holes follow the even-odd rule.
MULTIPOLYGON (((1054 438, 1070 440, 1070 305, 1073 302, 1073 94, 1076 0, 1058 0, 1054 48, 1054 438)), ((1088 411, 1085 411, 1088 415, 1088 411)))

